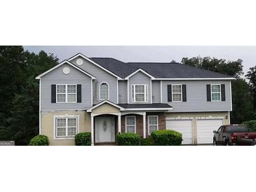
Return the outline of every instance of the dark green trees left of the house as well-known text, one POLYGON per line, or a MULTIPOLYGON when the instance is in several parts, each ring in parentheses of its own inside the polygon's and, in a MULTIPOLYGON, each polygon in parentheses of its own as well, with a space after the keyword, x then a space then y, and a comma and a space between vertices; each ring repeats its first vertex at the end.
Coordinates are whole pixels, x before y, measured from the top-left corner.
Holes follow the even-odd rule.
POLYGON ((4 77, 10 82, 5 80, 6 85, 0 88, 1 92, 8 92, 8 95, 0 95, 1 107, 4 107, 0 111, 4 117, 1 118, 0 140, 27 145, 39 133, 39 81, 35 77, 54 67, 58 58, 44 51, 29 53, 22 46, 3 46, 2 49, 8 51, 3 51, 0 60, 9 62, 1 62, 1 69, 6 69, 4 77))

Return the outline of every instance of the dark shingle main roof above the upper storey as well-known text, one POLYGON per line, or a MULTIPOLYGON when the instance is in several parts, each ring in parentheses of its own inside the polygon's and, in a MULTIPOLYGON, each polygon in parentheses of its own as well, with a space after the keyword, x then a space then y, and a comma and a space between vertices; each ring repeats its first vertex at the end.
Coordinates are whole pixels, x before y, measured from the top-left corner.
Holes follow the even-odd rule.
POLYGON ((191 67, 177 62, 121 62, 109 57, 90 58, 114 74, 125 78, 137 69, 143 69, 156 78, 231 78, 206 69, 191 67))

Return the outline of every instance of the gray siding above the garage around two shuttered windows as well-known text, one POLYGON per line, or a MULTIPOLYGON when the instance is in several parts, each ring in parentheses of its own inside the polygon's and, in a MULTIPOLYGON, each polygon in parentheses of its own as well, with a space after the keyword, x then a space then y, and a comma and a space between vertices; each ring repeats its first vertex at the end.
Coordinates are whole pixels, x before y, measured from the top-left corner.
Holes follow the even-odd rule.
POLYGON ((231 111, 230 81, 162 81, 163 103, 173 107, 173 112, 231 111), (187 102, 168 102, 167 85, 187 85, 187 102), (206 85, 225 84, 226 101, 207 102, 206 85))

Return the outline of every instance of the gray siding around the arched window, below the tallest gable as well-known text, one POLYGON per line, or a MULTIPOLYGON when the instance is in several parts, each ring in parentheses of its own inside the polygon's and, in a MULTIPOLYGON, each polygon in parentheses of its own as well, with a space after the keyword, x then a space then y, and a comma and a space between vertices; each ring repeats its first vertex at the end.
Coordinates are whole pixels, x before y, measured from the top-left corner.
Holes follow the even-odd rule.
POLYGON ((109 101, 116 103, 117 102, 117 78, 112 74, 109 74, 107 71, 100 69, 95 64, 84 60, 82 57, 77 57, 74 60, 71 60, 73 64, 80 67, 81 69, 87 71, 89 74, 95 76, 95 80, 93 82, 93 104, 97 104, 100 102, 100 91, 99 86, 100 83, 106 82, 109 84, 109 101), (81 58, 83 60, 82 65, 77 65, 76 60, 81 58))

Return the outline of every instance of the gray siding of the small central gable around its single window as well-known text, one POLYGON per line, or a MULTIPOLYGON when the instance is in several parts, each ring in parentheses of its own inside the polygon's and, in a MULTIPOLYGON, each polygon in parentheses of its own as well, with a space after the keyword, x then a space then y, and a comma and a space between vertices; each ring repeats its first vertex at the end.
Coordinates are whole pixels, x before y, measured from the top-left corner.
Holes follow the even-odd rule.
MULTIPOLYGON (((142 102, 142 103, 151 103, 151 78, 142 72, 137 72, 137 74, 134 74, 129 78, 129 102, 133 103, 133 90, 132 85, 135 84, 147 84, 148 87, 148 102, 142 102)), ((138 103, 138 102, 135 102, 138 103)))

